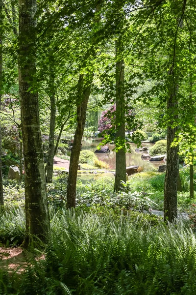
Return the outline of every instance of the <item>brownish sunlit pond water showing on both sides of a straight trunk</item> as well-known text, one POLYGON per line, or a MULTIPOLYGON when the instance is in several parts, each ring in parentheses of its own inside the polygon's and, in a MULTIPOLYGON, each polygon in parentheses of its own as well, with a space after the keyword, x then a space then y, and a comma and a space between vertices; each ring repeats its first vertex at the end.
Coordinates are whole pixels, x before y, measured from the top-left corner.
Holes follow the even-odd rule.
MULTIPOLYGON (((97 149, 98 144, 101 142, 102 139, 100 138, 84 138, 82 140, 82 149, 89 149, 93 152, 97 149)), ((126 153, 126 167, 131 165, 141 166, 144 168, 144 170, 153 170, 154 168, 157 168, 164 164, 164 161, 154 161, 149 162, 148 160, 142 160, 141 156, 142 153, 135 152, 136 146, 134 144, 131 145, 131 153, 126 153)), ((153 144, 144 143, 142 144, 143 147, 150 147, 153 144)), ((115 145, 107 144, 109 149, 111 150, 110 153, 96 153, 96 156, 99 160, 107 163, 109 165, 110 169, 116 168, 116 152, 113 151, 115 145)))

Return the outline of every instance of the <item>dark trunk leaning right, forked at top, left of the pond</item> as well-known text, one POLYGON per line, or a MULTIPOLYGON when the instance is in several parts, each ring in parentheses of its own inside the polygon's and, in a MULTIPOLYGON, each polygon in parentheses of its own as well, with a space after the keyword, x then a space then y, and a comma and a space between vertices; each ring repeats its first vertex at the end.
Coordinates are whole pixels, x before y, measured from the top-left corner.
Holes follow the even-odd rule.
POLYGON ((70 157, 70 168, 67 186, 67 208, 75 207, 77 169, 79 163, 82 135, 86 122, 87 104, 91 92, 91 82, 87 88, 83 89, 83 80, 84 77, 80 74, 78 81, 78 100, 81 101, 81 103, 77 106, 77 127, 75 130, 73 147, 70 157))

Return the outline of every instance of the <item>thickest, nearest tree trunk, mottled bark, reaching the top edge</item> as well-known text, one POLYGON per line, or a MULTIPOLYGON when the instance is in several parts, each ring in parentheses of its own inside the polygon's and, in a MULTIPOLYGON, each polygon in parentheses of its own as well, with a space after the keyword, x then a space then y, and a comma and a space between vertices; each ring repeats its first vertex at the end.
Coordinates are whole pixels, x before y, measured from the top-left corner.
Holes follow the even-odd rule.
POLYGON ((19 0, 19 92, 25 161, 26 232, 24 247, 32 235, 45 241, 49 235, 49 211, 38 93, 35 85, 36 0, 19 0), (31 88, 31 91, 29 91, 31 88))

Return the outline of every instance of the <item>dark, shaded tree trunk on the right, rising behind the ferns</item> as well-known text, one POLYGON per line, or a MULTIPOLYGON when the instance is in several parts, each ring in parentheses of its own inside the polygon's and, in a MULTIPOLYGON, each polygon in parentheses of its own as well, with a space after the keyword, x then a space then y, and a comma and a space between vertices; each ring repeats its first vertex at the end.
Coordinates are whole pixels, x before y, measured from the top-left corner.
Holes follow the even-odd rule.
POLYGON ((173 222, 177 218, 177 179, 179 173, 179 146, 171 147, 171 144, 175 138, 177 127, 173 127, 173 119, 177 119, 177 115, 174 115, 177 110, 176 95, 171 94, 168 103, 167 110, 171 116, 171 120, 168 122, 168 135, 167 135, 167 170, 165 176, 164 186, 164 220, 173 222))

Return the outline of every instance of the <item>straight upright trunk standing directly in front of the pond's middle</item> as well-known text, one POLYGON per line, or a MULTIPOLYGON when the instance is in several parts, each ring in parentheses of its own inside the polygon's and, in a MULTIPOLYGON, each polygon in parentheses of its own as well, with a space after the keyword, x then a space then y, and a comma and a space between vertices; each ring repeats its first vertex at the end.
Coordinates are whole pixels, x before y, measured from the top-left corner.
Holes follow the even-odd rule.
MULTIPOLYGON (((116 56, 121 50, 121 37, 116 41, 116 56)), ((116 174, 114 191, 118 191, 121 181, 126 182, 126 152, 125 152, 125 102, 124 102, 124 61, 116 63, 116 137, 121 148, 116 152, 116 174)))

